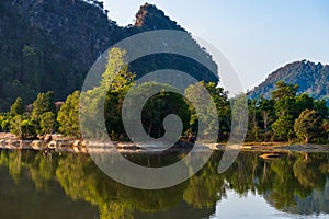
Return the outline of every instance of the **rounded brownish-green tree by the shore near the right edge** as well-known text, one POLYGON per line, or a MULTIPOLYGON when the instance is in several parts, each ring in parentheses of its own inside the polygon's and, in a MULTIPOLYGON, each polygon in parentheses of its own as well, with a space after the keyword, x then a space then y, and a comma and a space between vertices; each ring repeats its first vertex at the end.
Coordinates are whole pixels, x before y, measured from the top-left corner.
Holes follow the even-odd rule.
POLYGON ((303 111, 295 122, 294 129, 298 138, 305 142, 311 142, 314 138, 324 134, 322 120, 314 110, 303 111))

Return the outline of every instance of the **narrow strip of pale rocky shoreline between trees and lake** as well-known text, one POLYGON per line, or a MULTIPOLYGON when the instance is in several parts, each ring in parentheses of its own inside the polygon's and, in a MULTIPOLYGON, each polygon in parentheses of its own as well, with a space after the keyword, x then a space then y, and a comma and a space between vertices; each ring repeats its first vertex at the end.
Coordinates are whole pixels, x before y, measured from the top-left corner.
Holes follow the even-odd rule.
MULTIPOLYGON (((19 139, 0 139, 0 149, 9 150, 35 150, 35 151, 56 151, 56 152, 174 152, 190 151, 194 143, 179 141, 175 146, 167 149, 152 145, 145 148, 132 142, 101 142, 89 141, 81 139, 52 139, 52 140, 19 140, 19 139), (90 151, 92 150, 92 151, 90 151)), ((226 150, 226 143, 204 143, 198 149, 226 150)), ((243 143, 242 146, 232 146, 230 149, 241 149, 241 151, 258 151, 258 152, 327 152, 329 153, 328 145, 309 145, 295 143, 288 145, 284 142, 260 142, 260 143, 243 143)))

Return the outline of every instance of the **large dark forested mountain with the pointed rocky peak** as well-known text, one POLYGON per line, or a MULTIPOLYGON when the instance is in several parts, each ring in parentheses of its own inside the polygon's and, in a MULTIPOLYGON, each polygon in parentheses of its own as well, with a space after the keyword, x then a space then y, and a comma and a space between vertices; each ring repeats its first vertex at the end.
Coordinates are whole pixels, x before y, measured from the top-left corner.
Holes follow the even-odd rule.
MULTIPOLYGON (((81 89, 100 54, 127 36, 155 30, 185 32, 148 3, 140 7, 134 25, 118 26, 109 16, 98 0, 1 0, 0 111, 8 110, 16 96, 29 104, 41 91, 53 90, 56 100, 65 100, 81 89)), ((211 57, 192 37, 191 42, 202 56, 211 57)), ((198 80, 218 81, 208 69, 183 57, 146 57, 131 69, 140 77, 168 64, 198 80), (152 64, 154 69, 143 61, 152 64)), ((215 62, 213 66, 217 70, 215 62)))

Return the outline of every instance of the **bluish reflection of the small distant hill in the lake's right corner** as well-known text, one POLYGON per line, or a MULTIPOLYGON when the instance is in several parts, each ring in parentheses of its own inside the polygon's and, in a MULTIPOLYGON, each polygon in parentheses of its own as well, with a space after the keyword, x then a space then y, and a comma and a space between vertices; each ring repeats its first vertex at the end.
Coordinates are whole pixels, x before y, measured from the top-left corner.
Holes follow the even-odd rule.
MULTIPOLYGON (((274 201, 270 198, 270 193, 264 195, 264 199, 270 204, 274 205, 274 201)), ((325 188, 315 189, 310 195, 305 198, 295 196, 295 206, 284 207, 280 210, 291 214, 299 215, 313 215, 313 214, 329 214, 329 178, 327 180, 325 188)))

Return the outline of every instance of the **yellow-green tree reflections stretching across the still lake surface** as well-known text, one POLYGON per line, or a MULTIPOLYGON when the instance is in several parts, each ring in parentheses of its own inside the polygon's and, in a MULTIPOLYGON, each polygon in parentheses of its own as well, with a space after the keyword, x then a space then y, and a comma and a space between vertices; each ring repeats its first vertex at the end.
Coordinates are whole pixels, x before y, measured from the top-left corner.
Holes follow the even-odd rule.
POLYGON ((136 211, 166 212, 182 201, 191 209, 204 209, 209 215, 209 209, 214 212, 216 203, 226 197, 227 189, 241 196, 249 191, 258 193, 284 211, 329 212, 325 205, 329 198, 329 185, 326 186, 329 154, 287 153, 266 161, 259 159, 259 153, 245 152, 227 172, 218 174, 220 157, 220 152, 215 153, 195 176, 161 191, 134 189, 118 184, 83 154, 59 157, 56 153, 1 151, 0 165, 8 166, 14 182, 19 182, 22 172, 26 171, 37 191, 47 192, 52 184, 59 183, 73 200, 98 206, 101 218, 134 218, 136 211))

